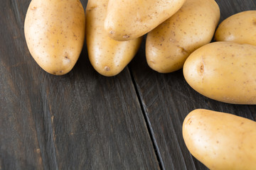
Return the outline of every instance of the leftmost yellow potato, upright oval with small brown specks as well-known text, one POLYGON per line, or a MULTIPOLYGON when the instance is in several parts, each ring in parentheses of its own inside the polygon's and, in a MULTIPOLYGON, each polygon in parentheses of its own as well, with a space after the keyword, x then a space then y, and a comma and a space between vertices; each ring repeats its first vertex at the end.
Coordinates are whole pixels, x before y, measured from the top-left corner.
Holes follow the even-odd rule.
POLYGON ((85 40, 85 11, 79 0, 32 0, 24 32, 28 50, 46 72, 70 72, 85 40))

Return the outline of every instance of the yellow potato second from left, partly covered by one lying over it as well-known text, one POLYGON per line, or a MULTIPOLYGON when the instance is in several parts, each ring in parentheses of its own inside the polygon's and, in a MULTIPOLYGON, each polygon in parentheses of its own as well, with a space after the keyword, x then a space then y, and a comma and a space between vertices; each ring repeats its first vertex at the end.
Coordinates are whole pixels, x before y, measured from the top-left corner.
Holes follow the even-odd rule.
POLYGON ((112 40, 104 30, 108 0, 89 0, 86 8, 86 42, 90 62, 100 74, 119 74, 136 55, 142 38, 112 40))

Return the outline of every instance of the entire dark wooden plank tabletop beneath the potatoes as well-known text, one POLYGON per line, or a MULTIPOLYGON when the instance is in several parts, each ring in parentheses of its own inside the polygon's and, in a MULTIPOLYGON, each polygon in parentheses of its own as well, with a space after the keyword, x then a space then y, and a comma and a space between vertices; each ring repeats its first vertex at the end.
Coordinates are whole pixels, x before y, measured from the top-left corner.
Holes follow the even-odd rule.
MULTIPOLYGON (((220 21, 256 9, 255 0, 217 2, 220 21)), ((70 73, 44 72, 23 34, 29 3, 0 4, 0 169, 207 169, 183 142, 186 115, 207 108, 256 120, 256 106, 206 98, 182 70, 151 70, 144 42, 116 77, 92 68, 86 46, 70 73)))

